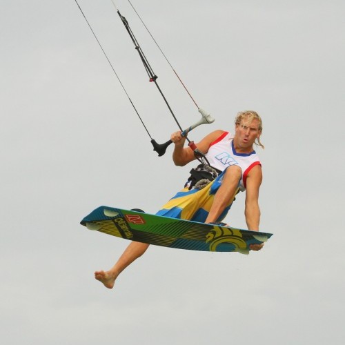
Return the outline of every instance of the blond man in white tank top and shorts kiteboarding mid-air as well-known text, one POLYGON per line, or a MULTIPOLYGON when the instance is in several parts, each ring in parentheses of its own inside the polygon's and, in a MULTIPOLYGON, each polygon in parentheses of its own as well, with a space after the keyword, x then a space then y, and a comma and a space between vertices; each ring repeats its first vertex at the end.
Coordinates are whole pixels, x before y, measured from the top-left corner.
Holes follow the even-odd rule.
MULTIPOLYGON (((253 145, 264 146, 260 142, 262 119, 257 112, 239 112, 235 119, 235 136, 224 130, 215 130, 206 135, 197 148, 204 153, 210 166, 220 174, 206 186, 190 188, 187 183, 181 192, 170 199, 157 215, 190 219, 205 223, 219 222, 230 210, 235 195, 246 191, 244 215, 248 230, 259 230, 259 187, 262 183, 262 168, 253 145)), ((171 135, 175 144, 172 159, 177 166, 185 166, 196 159, 189 147, 184 147, 186 138, 181 132, 171 135)), ((95 278, 106 288, 112 288, 118 275, 143 255, 148 244, 131 242, 116 264, 108 271, 95 272, 95 278)), ((250 246, 251 250, 260 250, 263 244, 250 246)))

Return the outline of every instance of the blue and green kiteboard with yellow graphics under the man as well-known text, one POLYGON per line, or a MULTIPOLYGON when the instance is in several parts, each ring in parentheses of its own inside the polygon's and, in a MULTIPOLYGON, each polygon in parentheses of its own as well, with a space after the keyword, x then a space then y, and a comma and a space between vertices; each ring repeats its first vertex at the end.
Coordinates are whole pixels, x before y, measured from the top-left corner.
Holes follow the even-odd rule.
POLYGON ((90 230, 169 248, 249 253, 272 234, 100 206, 80 223, 90 230))

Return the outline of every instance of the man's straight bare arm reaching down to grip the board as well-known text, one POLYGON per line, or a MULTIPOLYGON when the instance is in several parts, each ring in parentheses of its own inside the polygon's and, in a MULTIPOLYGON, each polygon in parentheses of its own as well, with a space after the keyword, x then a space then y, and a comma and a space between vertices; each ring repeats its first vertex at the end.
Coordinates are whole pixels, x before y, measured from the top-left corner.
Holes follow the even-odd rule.
POLYGON ((262 168, 255 166, 248 172, 246 180, 246 202, 244 215, 248 230, 259 231, 260 208, 259 208, 259 188, 262 184, 262 168))

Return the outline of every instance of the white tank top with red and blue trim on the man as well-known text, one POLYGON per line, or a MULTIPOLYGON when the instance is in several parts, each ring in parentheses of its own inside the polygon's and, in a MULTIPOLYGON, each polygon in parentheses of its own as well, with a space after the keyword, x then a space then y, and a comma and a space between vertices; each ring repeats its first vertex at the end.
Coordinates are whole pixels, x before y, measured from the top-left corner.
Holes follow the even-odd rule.
POLYGON ((228 166, 237 165, 242 169, 242 178, 239 182, 239 190, 246 190, 246 179, 248 172, 257 165, 261 166, 257 153, 253 150, 250 153, 237 153, 233 144, 233 136, 224 132, 218 139, 210 144, 206 153, 210 166, 224 171, 228 166))

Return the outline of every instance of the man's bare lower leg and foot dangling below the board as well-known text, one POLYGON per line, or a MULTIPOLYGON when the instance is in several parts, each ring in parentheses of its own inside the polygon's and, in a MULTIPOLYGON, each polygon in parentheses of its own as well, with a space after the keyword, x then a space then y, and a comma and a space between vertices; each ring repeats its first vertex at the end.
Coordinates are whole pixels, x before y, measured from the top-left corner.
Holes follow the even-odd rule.
POLYGON ((146 252, 148 244, 141 242, 131 242, 124 253, 119 257, 116 264, 110 270, 99 270, 95 272, 95 278, 103 283, 106 288, 112 288, 117 276, 138 257, 146 252))

